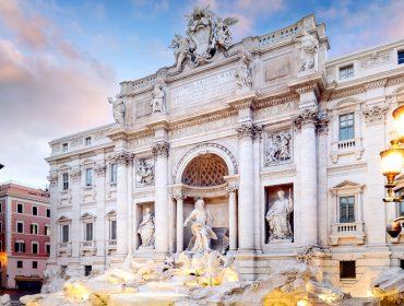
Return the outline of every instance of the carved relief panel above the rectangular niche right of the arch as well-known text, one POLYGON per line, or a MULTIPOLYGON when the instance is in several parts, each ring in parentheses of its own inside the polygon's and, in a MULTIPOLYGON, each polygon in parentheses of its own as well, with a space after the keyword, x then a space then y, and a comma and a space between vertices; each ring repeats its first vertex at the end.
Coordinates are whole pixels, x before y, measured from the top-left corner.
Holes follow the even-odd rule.
POLYGON ((268 136, 264 154, 265 166, 287 162, 292 160, 292 133, 280 131, 268 136))

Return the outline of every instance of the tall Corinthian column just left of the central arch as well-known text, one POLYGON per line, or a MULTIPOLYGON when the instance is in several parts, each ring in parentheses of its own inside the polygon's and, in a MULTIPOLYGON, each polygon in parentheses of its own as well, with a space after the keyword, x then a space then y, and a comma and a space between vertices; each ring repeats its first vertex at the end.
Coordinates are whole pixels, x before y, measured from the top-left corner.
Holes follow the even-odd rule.
POLYGON ((155 156, 155 247, 159 252, 168 252, 168 152, 169 144, 158 141, 153 146, 155 156))

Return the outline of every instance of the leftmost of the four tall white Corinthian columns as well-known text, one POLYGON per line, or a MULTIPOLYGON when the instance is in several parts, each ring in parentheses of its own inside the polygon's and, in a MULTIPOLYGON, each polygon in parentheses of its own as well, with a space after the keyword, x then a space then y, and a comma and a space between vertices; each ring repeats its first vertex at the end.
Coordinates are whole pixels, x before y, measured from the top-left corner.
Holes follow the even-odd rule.
POLYGON ((117 163, 117 255, 128 254, 128 164, 133 161, 133 154, 122 151, 116 154, 117 163))

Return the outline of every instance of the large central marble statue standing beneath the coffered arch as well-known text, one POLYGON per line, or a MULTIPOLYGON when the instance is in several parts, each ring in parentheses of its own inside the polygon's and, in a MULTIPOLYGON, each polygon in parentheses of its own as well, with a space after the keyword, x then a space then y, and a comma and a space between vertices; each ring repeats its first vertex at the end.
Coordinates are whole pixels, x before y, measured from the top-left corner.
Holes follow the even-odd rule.
POLYGON ((193 254, 202 254, 211 250, 211 240, 217 239, 216 234, 213 232, 213 215, 205 209, 203 199, 198 199, 195 208, 183 222, 187 226, 191 222, 191 238, 188 249, 193 254))

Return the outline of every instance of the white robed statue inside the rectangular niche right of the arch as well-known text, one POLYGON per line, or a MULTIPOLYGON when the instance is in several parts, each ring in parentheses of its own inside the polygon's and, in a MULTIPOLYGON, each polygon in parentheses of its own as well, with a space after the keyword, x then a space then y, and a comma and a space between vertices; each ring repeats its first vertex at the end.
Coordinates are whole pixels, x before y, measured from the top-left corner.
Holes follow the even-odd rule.
POLYGON ((292 239, 293 232, 289 215, 293 212, 293 201, 289 190, 289 198, 285 199, 285 191, 277 191, 277 200, 266 213, 266 221, 270 226, 270 240, 292 239))

